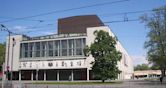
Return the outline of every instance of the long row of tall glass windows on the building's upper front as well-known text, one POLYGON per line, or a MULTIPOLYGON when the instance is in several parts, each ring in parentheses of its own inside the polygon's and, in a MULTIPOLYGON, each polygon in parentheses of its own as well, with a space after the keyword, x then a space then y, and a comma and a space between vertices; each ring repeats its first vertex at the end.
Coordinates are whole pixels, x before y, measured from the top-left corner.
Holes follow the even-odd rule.
POLYGON ((21 58, 84 56, 85 38, 21 43, 21 58))

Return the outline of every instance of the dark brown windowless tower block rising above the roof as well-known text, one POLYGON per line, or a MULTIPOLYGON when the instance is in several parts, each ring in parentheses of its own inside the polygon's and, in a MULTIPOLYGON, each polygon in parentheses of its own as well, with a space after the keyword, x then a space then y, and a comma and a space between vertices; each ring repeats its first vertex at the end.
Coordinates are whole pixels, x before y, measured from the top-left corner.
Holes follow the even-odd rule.
POLYGON ((58 19, 58 34, 86 33, 87 27, 104 26, 96 15, 73 16, 58 19))

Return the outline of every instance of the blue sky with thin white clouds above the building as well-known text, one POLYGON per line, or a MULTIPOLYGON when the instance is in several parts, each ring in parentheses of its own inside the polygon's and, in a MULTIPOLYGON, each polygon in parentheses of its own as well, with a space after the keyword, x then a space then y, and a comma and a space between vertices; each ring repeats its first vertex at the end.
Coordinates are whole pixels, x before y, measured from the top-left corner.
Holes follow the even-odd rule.
MULTIPOLYGON (((112 15, 115 13, 151 10, 166 5, 166 0, 129 0, 121 3, 107 4, 72 11, 33 17, 24 20, 4 22, 13 18, 26 17, 57 10, 93 5, 120 0, 0 0, 0 24, 4 24, 15 33, 29 36, 47 35, 57 32, 58 18, 75 15, 98 15, 103 22, 138 19, 144 13, 112 15), (38 21, 38 20, 42 20, 38 21), (41 27, 40 27, 41 26, 41 27), (35 28, 36 27, 36 28, 35 28), (40 27, 40 28, 39 28, 40 27)), ((140 21, 108 23, 122 45, 133 57, 134 64, 146 63, 146 50, 143 49, 148 29, 140 21)), ((0 43, 5 42, 7 33, 0 31, 0 43)))

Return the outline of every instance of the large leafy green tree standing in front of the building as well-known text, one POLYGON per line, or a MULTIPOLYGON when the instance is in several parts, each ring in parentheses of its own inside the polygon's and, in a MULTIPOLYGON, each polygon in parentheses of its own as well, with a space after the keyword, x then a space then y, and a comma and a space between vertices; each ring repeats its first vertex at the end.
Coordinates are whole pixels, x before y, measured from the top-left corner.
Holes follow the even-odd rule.
MULTIPOLYGON (((113 38, 105 31, 95 31, 94 43, 85 51, 89 51, 93 57, 92 73, 96 78, 104 82, 107 79, 116 79, 121 72, 117 62, 121 59, 121 52, 116 50, 116 38, 113 38)), ((87 53, 87 52, 86 52, 87 53)))

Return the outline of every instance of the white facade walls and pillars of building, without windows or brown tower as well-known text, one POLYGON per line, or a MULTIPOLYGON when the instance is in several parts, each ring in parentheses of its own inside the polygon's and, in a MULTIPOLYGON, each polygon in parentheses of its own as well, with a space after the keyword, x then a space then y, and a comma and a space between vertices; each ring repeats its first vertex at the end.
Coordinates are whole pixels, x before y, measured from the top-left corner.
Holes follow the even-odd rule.
MULTIPOLYGON (((24 36, 22 35, 16 35, 10 37, 10 48, 9 48, 9 60, 8 60, 8 46, 6 46, 6 60, 5 60, 5 67, 9 66, 10 71, 19 72, 22 70, 49 70, 54 69, 59 72, 59 70, 63 69, 72 69, 71 75, 73 77, 73 69, 86 69, 86 76, 89 80, 89 70, 91 70, 91 62, 94 60, 94 58, 90 55, 89 57, 85 57, 84 55, 76 55, 76 56, 68 56, 69 50, 67 51, 67 56, 60 55, 56 57, 32 57, 32 58, 21 58, 20 50, 21 50, 21 43, 30 43, 30 42, 44 42, 44 41, 63 41, 67 39, 67 43, 69 42, 69 39, 80 39, 85 38, 85 45, 91 45, 93 43, 95 36, 93 35, 95 30, 104 30, 109 32, 111 36, 114 36, 114 34, 110 31, 110 28, 107 26, 101 26, 101 27, 89 27, 87 28, 87 33, 85 35, 56 35, 54 38, 48 38, 48 39, 35 39, 35 40, 27 40, 25 41, 24 36), (12 39, 15 39, 15 43, 13 43, 12 39), (14 46, 13 46, 14 44, 14 46), (13 54, 12 54, 13 53, 13 54), (13 63, 12 63, 13 62, 13 63)), ((8 40, 8 39, 7 39, 8 40)), ((81 40, 83 41, 83 39, 81 40)), ((8 42, 7 42, 8 45, 8 42)), ((41 44, 40 44, 41 47, 41 44)), ((62 46, 61 46, 62 47, 62 46)), ((69 47, 69 46, 67 46, 69 47)), ((63 47, 62 47, 63 48, 63 47)), ((133 61, 132 58, 128 55, 127 51, 122 47, 120 42, 117 42, 116 48, 122 52, 122 59, 120 62, 118 62, 118 67, 122 71, 121 74, 119 74, 118 79, 130 79, 133 75, 133 61)), ((46 51, 47 52, 47 51, 46 51)), ((55 51, 53 51, 55 52, 55 51)), ((59 52, 59 51, 58 51, 59 52)), ((60 51, 62 52, 62 51, 60 51)), ((77 53, 75 51, 75 53, 77 53)), ((61 53, 62 54, 62 53, 61 53)), ((40 52, 41 55, 41 52, 40 52)), ((7 69, 5 69, 7 71, 7 69)), ((36 74, 36 73, 35 73, 36 74)), ((46 80, 46 73, 44 71, 44 79, 46 80)), ((20 75, 19 75, 20 76, 20 75)), ((33 79, 32 75, 32 79, 33 79)), ((57 80, 59 80, 59 73, 57 73, 57 80)))

